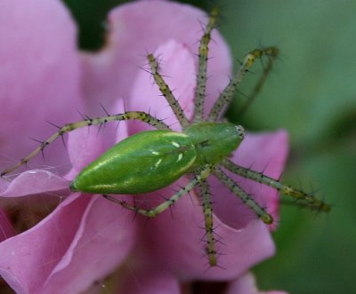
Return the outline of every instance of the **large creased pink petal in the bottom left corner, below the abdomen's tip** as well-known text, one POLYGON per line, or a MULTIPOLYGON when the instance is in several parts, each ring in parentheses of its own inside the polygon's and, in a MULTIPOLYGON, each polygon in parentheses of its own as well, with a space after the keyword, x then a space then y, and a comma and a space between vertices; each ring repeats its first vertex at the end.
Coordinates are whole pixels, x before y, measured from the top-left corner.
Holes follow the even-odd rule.
POLYGON ((37 226, 0 243, 0 274, 17 293, 78 293, 113 271, 134 235, 131 217, 116 205, 70 197, 37 226))

